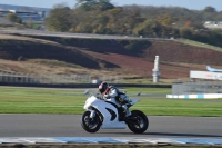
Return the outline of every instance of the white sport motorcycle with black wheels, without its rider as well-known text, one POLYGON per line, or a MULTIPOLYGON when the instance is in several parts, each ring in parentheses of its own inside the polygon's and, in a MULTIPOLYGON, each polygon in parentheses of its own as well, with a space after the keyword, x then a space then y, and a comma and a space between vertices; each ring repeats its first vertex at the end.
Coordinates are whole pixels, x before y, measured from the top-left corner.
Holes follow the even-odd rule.
MULTIPOLYGON (((128 108, 140 101, 131 99, 128 108)), ((132 110, 129 117, 125 117, 122 107, 114 102, 105 101, 101 97, 90 95, 84 103, 85 111, 81 118, 81 126, 88 132, 97 132, 102 129, 125 129, 134 134, 142 134, 148 129, 148 117, 140 110, 132 110)))

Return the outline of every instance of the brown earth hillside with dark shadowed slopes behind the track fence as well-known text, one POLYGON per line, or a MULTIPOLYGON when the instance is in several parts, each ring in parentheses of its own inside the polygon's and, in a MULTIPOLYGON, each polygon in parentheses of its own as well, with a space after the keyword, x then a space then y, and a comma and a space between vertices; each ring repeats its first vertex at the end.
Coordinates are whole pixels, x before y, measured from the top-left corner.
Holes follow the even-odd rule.
POLYGON ((23 73, 91 73, 152 79, 160 56, 161 79, 183 79, 190 70, 221 68, 221 51, 176 40, 100 40, 0 36, 0 70, 23 73), (38 39, 39 38, 39 39, 38 39))

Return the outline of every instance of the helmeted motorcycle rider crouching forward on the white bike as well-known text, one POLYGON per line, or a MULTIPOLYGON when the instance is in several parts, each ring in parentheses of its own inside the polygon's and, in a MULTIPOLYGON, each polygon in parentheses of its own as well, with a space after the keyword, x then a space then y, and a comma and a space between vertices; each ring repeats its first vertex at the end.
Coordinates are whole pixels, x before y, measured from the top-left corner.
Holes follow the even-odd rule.
POLYGON ((108 85, 108 82, 101 82, 99 85, 99 91, 101 92, 105 101, 111 101, 119 107, 122 107, 125 117, 129 117, 131 115, 127 106, 129 103, 129 98, 124 92, 120 91, 114 86, 108 85))

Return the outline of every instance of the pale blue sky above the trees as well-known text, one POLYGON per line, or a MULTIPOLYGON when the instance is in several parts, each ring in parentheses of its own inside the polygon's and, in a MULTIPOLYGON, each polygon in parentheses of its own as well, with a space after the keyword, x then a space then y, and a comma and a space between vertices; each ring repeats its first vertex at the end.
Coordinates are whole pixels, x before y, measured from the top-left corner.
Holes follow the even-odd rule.
MULTIPOLYGON (((1 4, 16 4, 16 6, 29 6, 40 8, 53 8, 58 3, 67 3, 70 8, 73 8, 75 0, 0 0, 1 4)), ((140 6, 165 6, 165 7, 184 7, 188 9, 202 10, 208 6, 215 8, 218 11, 222 11, 222 0, 111 0, 114 6, 124 4, 140 4, 140 6)))

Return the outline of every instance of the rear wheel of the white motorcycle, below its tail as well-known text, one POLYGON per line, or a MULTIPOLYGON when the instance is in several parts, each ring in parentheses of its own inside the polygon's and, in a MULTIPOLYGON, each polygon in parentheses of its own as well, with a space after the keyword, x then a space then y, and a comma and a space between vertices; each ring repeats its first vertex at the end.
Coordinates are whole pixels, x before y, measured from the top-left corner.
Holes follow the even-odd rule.
POLYGON ((130 118, 133 118, 131 121, 128 121, 129 129, 134 134, 142 134, 148 129, 149 120, 148 117, 140 110, 132 110, 130 118))

